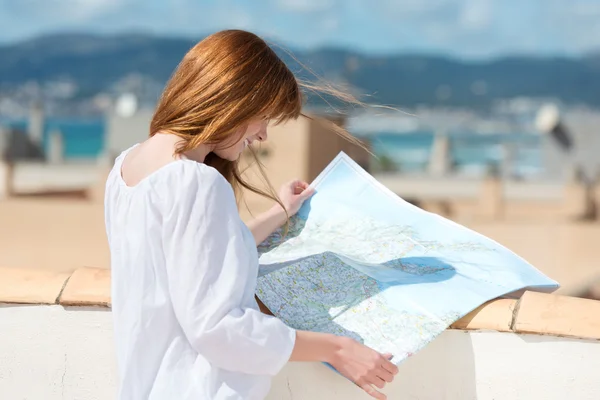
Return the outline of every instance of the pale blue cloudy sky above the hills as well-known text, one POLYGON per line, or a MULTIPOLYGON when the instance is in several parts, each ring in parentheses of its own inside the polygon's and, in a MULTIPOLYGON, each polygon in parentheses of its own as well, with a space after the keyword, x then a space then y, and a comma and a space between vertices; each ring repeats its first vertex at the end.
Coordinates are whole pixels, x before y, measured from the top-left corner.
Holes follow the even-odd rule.
POLYGON ((0 43, 56 32, 202 37, 250 30, 292 48, 363 53, 600 51, 600 0, 0 0, 0 43))

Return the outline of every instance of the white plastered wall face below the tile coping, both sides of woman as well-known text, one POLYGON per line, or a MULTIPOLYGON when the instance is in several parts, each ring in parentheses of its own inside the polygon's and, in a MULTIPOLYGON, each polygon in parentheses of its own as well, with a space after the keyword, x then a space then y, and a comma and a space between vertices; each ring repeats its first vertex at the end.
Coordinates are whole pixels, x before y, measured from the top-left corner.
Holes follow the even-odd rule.
MULTIPOLYGON (((389 399, 586 400, 600 393, 600 341, 449 330, 400 366, 389 399)), ((113 399, 111 314, 0 306, 0 398, 113 399)), ((270 400, 367 399, 320 364, 289 364, 270 400)))

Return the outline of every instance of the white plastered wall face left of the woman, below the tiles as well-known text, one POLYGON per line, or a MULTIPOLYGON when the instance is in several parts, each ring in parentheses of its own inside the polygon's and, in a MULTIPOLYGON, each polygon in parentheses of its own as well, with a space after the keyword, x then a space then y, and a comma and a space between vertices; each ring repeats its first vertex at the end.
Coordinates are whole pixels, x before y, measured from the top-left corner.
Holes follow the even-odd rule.
POLYGON ((62 306, 0 308, 0 398, 114 399, 110 317, 62 306))

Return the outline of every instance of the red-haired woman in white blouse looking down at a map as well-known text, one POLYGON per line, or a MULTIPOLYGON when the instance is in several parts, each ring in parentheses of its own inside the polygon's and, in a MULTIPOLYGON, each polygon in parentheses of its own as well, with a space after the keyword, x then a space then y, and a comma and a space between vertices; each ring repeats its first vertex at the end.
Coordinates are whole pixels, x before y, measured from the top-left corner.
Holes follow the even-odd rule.
POLYGON ((124 151, 106 184, 120 399, 263 399, 288 361, 328 362, 373 397, 395 365, 349 338, 296 331, 261 313, 256 244, 311 191, 279 199, 245 183, 240 153, 267 124, 298 118, 302 96, 257 36, 223 31, 183 58, 145 142, 124 151), (277 204, 241 221, 239 186, 277 204))

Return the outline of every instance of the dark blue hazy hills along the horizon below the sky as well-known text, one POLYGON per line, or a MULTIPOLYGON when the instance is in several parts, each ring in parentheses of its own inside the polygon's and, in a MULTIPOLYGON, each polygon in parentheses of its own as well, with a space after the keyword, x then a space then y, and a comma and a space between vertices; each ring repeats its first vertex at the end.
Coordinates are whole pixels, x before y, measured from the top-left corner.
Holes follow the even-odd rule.
MULTIPOLYGON (((57 34, 5 45, 0 47, 0 90, 10 92, 31 81, 67 81, 75 89, 63 95, 65 101, 123 90, 140 90, 139 95, 152 99, 194 43, 150 35, 57 34), (137 77, 138 89, 127 88, 131 76, 137 77)), ((292 52, 326 80, 379 104, 486 108, 498 99, 532 97, 600 106, 600 54, 468 61, 372 56, 336 48, 292 52)), ((285 52, 279 53, 295 72, 311 78, 285 52)))

